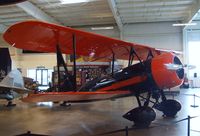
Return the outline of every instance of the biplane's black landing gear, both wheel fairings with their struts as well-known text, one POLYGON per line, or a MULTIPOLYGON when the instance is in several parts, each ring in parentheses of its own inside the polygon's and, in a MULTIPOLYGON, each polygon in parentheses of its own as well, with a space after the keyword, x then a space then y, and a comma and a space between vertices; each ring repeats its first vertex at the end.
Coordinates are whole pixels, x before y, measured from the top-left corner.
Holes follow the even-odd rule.
POLYGON ((123 117, 129 121, 133 121, 134 125, 138 128, 149 127, 152 121, 156 118, 156 113, 153 108, 162 111, 165 117, 175 117, 177 112, 181 110, 181 104, 172 99, 167 99, 163 90, 149 91, 147 97, 139 96, 135 94, 139 107, 130 110, 123 117), (156 102, 150 100, 150 97, 154 98, 156 102), (146 100, 141 103, 140 97, 146 100), (161 98, 161 102, 159 102, 161 98), (149 107, 149 102, 154 103, 153 108, 149 107))

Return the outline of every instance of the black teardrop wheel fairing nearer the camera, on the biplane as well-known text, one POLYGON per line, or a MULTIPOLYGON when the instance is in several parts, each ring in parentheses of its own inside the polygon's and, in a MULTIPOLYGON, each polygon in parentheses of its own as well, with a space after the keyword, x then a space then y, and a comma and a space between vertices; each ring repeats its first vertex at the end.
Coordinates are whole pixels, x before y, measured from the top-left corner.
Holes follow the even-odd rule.
POLYGON ((130 110, 123 117, 133 121, 137 128, 147 128, 156 118, 156 113, 151 107, 141 106, 130 110))

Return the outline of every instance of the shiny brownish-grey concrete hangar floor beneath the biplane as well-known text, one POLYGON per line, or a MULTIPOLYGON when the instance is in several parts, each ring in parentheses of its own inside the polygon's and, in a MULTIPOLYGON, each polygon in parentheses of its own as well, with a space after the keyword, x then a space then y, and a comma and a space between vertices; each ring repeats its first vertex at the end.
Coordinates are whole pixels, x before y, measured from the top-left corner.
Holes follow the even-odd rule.
MULTIPOLYGON (((182 89, 175 96, 182 103, 182 110, 176 118, 163 118, 157 111, 156 120, 148 129, 137 129, 129 132, 130 136, 187 136, 187 121, 173 124, 174 121, 190 116, 200 116, 200 107, 192 108, 193 97, 200 96, 200 89, 182 89), (161 126, 162 124, 162 126, 161 126)), ((169 96, 172 98, 172 96, 169 96)), ((16 107, 3 106, 0 101, 0 136, 13 136, 27 131, 51 136, 93 136, 100 133, 131 127, 132 122, 121 116, 137 106, 134 97, 115 101, 101 101, 87 104, 72 104, 71 107, 60 107, 58 104, 36 105, 16 100, 16 107)), ((200 106, 200 98, 196 98, 200 106)), ((191 119, 191 136, 200 136, 200 117, 191 119)), ((125 132, 108 136, 125 136, 125 132)))

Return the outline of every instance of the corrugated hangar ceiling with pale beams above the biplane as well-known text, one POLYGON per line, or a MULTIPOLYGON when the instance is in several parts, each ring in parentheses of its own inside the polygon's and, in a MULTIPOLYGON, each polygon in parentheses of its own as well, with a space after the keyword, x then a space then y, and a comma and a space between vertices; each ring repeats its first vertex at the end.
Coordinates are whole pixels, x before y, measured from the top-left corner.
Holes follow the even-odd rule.
POLYGON ((60 0, 29 0, 0 7, 0 31, 27 19, 39 19, 70 27, 144 22, 189 22, 200 0, 87 0, 62 4, 60 0))

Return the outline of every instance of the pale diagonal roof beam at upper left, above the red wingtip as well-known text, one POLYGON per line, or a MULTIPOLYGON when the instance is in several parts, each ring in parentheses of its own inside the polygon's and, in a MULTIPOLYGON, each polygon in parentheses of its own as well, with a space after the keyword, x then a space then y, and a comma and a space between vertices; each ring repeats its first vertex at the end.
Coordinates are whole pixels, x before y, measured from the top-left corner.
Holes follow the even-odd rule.
POLYGON ((49 16, 47 13, 45 13, 43 10, 39 9, 37 6, 33 5, 29 1, 22 2, 16 5, 38 20, 51 22, 55 24, 61 24, 60 22, 49 16))

